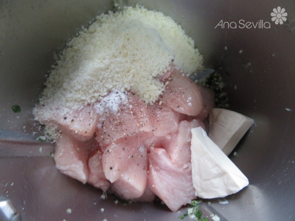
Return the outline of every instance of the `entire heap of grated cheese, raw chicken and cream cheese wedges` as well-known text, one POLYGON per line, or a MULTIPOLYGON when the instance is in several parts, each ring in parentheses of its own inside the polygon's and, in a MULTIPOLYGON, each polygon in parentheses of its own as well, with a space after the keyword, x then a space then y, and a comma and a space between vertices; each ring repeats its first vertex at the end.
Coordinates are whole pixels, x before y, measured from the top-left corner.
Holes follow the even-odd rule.
POLYGON ((188 78, 203 69, 170 17, 138 5, 98 16, 68 42, 33 110, 57 168, 172 211, 247 186, 226 155, 253 120, 214 108, 213 90, 188 78))

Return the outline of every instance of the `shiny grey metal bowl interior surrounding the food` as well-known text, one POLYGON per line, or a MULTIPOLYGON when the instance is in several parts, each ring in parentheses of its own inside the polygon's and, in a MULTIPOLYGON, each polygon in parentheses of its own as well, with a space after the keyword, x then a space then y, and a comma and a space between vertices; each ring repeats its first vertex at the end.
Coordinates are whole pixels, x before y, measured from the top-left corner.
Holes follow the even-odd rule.
MULTIPOLYGON (((138 2, 171 16, 195 40, 207 67, 224 78, 230 109, 255 120, 236 156, 230 156, 250 185, 226 197, 228 204, 206 200, 205 210, 221 220, 295 220, 294 1, 119 2, 138 2), (283 25, 271 21, 277 6, 288 13, 283 25), (270 28, 216 27, 221 20, 263 20, 270 28)), ((101 191, 60 174, 50 157, 53 145, 36 141, 41 134, 31 109, 55 55, 112 5, 111 0, 0 0, 0 193, 23 220, 179 220, 161 204, 101 199, 101 191), (20 113, 11 111, 15 104, 20 113)))

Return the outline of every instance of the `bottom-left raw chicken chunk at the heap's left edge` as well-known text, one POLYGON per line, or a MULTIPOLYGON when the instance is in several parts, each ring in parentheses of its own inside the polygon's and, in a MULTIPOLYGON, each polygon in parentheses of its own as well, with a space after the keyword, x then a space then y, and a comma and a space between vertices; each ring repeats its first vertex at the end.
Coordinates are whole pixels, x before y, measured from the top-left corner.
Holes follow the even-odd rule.
POLYGON ((96 148, 94 139, 81 142, 62 133, 57 140, 54 154, 56 167, 62 173, 85 184, 88 179, 88 156, 96 148))

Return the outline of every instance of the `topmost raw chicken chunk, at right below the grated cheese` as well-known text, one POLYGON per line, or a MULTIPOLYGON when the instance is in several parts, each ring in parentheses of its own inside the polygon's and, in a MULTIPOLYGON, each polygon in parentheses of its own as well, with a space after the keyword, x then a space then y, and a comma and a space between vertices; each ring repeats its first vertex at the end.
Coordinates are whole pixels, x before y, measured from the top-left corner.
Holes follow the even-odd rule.
POLYGON ((162 95, 164 106, 174 111, 196 116, 204 108, 203 98, 198 86, 177 69, 172 71, 162 95))

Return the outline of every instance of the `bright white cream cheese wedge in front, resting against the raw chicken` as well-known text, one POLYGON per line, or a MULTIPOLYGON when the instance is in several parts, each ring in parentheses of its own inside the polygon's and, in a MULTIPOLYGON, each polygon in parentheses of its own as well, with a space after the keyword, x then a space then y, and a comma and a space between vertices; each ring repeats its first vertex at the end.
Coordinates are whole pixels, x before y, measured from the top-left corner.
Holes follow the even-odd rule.
POLYGON ((224 197, 246 187, 247 177, 201 128, 193 128, 191 163, 193 186, 201 198, 224 197))

